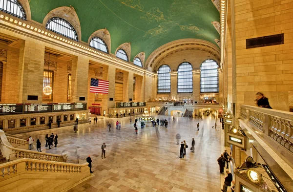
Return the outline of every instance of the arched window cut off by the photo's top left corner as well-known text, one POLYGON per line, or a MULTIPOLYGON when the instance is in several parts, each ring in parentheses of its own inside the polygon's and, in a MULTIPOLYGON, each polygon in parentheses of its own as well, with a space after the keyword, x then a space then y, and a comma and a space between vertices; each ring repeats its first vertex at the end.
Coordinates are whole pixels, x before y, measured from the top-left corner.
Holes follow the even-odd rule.
POLYGON ((0 10, 26 20, 25 12, 18 0, 0 0, 0 10))

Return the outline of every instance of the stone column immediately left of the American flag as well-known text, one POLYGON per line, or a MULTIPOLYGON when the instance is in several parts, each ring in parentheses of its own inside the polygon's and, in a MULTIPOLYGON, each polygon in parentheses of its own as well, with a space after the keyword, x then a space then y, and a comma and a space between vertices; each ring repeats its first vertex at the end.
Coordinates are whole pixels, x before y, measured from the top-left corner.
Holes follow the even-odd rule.
POLYGON ((88 84, 88 57, 72 57, 71 72, 71 100, 70 102, 86 102, 88 84), (80 101, 80 97, 85 97, 85 101, 80 101))

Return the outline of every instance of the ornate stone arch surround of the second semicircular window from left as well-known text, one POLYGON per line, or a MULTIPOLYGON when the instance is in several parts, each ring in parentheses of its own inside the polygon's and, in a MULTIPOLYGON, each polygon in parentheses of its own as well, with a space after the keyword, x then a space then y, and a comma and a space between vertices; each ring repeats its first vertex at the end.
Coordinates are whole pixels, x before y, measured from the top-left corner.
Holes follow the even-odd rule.
POLYGON ((68 21, 75 29, 78 39, 82 39, 82 30, 81 30, 81 23, 79 18, 75 12, 75 8, 70 5, 70 7, 58 7, 50 11, 43 20, 42 25, 46 27, 46 23, 49 19, 53 17, 59 17, 66 21, 68 21))

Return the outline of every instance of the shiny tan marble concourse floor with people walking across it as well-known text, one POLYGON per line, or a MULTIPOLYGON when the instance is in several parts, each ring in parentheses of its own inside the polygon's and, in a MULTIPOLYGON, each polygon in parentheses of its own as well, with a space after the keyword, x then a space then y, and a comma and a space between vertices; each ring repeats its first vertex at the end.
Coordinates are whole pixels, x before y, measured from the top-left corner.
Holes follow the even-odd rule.
MULTIPOLYGON (((158 116, 171 120, 168 116, 158 116)), ((138 127, 135 134, 129 117, 119 118, 121 130, 116 130, 115 118, 99 119, 97 124, 79 125, 78 133, 73 127, 53 128, 18 134, 22 138, 32 136, 40 139, 42 151, 61 154, 68 151, 68 158, 84 163, 88 154, 92 158, 92 177, 79 183, 69 192, 220 192, 222 183, 217 158, 222 151, 220 122, 217 128, 212 117, 194 120, 175 117, 168 128, 138 127), (112 124, 112 131, 106 122, 112 124), (197 131, 196 123, 200 123, 197 131), (57 148, 45 149, 46 133, 58 134, 57 148), (180 146, 175 135, 186 140, 189 148, 186 157, 179 158, 180 146), (192 138, 195 153, 190 152, 192 138), (106 143, 106 158, 101 158, 101 145, 106 143)), ((222 137, 223 140, 223 137, 222 137)), ((36 149, 34 149, 36 150, 36 149)))

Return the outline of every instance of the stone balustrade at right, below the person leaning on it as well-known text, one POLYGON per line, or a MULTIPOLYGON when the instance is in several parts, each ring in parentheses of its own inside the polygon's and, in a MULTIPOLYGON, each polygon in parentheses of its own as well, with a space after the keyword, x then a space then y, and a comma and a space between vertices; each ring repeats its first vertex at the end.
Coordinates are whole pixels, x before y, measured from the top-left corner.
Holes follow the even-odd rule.
POLYGON ((293 152, 293 113, 274 109, 240 106, 240 118, 250 122, 261 133, 293 152))

